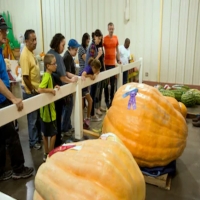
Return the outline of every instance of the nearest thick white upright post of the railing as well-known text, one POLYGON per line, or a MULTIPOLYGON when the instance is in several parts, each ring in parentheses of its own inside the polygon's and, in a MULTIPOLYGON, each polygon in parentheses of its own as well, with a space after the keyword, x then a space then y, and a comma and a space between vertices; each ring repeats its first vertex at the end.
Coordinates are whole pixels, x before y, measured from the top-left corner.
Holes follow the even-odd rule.
POLYGON ((74 101, 74 129, 75 138, 83 138, 83 107, 82 107, 82 88, 81 88, 81 78, 77 81, 75 101, 74 101))

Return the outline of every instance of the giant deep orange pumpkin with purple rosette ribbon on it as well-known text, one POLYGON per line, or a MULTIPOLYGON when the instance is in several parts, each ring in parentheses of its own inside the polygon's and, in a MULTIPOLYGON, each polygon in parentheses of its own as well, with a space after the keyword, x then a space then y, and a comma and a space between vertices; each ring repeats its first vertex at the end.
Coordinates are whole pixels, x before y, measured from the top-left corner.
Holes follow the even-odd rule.
POLYGON ((155 88, 128 83, 118 89, 108 110, 102 132, 115 133, 141 167, 165 166, 186 146, 187 125, 180 112, 155 88), (136 109, 127 109, 128 88, 138 88, 136 109))

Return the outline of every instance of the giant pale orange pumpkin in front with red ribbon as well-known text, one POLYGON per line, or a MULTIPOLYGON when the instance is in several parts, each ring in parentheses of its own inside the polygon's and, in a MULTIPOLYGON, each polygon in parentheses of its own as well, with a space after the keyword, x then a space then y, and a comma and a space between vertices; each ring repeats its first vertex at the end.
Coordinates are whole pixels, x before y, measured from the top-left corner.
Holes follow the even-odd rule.
POLYGON ((69 145, 76 146, 54 153, 40 166, 34 200, 145 199, 144 177, 114 134, 69 145))

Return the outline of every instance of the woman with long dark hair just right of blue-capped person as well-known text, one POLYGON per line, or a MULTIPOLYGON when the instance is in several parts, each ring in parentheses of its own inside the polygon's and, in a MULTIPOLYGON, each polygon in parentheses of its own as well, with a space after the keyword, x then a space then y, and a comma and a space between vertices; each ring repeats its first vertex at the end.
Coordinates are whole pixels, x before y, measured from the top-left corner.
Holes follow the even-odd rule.
POLYGON ((78 49, 79 73, 81 73, 85 67, 85 59, 89 43, 90 35, 88 33, 84 33, 81 46, 78 49))

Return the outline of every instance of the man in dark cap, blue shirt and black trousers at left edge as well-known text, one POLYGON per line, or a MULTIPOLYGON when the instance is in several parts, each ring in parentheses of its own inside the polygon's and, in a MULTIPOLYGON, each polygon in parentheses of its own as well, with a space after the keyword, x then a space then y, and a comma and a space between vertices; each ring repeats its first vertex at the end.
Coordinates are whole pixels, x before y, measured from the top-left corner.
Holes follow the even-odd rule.
MULTIPOLYGON (((8 29, 4 18, 0 15, 0 109, 11 105, 17 106, 18 111, 23 109, 22 100, 16 98, 10 91, 10 83, 6 71, 6 65, 2 55, 1 46, 6 42, 8 29)), ((0 126, 0 181, 10 178, 28 178, 32 175, 33 168, 24 166, 24 155, 19 140, 19 135, 15 130, 13 122, 0 126), (8 149, 12 170, 5 171, 6 148, 8 149)))

